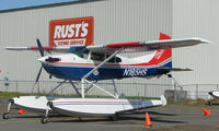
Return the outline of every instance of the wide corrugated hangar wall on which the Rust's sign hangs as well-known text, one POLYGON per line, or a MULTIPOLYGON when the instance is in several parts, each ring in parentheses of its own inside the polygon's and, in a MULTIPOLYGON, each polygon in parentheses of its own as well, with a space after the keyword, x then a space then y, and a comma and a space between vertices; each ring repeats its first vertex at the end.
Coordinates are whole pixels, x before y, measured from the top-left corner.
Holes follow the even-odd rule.
MULTIPOLYGON (((3 47, 35 46, 35 37, 47 46, 50 20, 93 16, 94 45, 104 45, 153 40, 160 32, 172 35, 172 10, 171 0, 107 0, 0 13, 0 79, 7 75, 10 80, 35 80, 39 53, 7 51, 3 47)), ((48 74, 44 72, 41 80, 48 80, 48 74)), ((169 84, 171 80, 162 76, 119 82, 169 84)))

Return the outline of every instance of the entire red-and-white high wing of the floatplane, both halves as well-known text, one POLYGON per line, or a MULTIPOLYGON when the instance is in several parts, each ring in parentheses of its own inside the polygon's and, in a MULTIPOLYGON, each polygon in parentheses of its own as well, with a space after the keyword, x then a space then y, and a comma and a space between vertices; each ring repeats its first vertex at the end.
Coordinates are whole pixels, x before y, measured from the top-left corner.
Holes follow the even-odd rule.
MULTIPOLYGON (((178 48, 186 46, 194 46, 198 44, 209 44, 210 41, 203 38, 182 38, 182 39, 168 39, 168 40, 152 40, 152 41, 134 41, 122 44, 107 44, 99 46, 88 46, 87 48, 93 52, 114 53, 116 50, 119 52, 140 52, 152 51, 159 49, 178 48)), ((57 47, 43 47, 44 50, 49 51, 65 51, 71 46, 57 46, 57 47)), ((38 50, 38 47, 5 47, 8 50, 38 50)))

